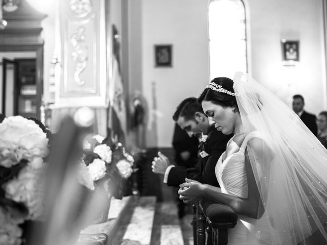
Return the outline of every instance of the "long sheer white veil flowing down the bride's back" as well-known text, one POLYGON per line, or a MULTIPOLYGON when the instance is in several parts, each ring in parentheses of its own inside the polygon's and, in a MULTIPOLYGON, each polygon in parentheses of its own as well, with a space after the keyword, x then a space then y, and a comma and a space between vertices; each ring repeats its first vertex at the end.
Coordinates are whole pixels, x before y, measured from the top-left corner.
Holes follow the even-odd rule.
POLYGON ((264 239, 268 230, 268 244, 298 244, 319 229, 327 240, 321 225, 327 221, 327 150, 249 75, 237 72, 233 81, 245 134, 258 131, 263 139, 252 138, 246 146, 264 206, 256 237, 264 239))

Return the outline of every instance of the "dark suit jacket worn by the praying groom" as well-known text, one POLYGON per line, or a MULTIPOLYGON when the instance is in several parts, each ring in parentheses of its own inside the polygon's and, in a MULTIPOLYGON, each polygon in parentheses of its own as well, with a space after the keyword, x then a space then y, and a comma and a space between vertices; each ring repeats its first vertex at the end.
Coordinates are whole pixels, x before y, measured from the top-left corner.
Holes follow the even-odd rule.
POLYGON ((199 156, 198 166, 195 168, 180 166, 171 168, 167 180, 168 186, 178 186, 185 182, 185 178, 219 186, 215 175, 215 167, 219 157, 226 150, 226 144, 232 134, 224 135, 212 126, 207 135, 207 140, 199 144, 199 152, 205 151, 209 155, 204 158, 199 156))

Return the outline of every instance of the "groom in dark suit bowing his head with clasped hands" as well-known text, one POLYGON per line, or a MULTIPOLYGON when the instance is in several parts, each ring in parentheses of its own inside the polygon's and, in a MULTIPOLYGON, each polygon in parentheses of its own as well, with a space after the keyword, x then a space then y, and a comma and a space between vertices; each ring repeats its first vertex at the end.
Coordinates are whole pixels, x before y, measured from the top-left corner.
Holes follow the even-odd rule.
POLYGON ((185 182, 185 178, 219 186, 215 167, 232 134, 224 135, 217 131, 215 126, 211 126, 195 97, 183 100, 178 105, 173 119, 190 137, 199 138, 198 166, 195 168, 174 166, 165 155, 158 152, 158 157, 152 161, 152 171, 164 175, 164 183, 168 186, 179 186, 185 182))

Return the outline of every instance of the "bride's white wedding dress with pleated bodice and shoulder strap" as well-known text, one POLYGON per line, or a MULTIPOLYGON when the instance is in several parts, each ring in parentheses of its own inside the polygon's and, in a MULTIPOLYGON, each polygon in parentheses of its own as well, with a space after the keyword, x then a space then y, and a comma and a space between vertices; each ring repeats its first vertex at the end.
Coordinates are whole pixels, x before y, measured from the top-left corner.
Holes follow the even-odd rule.
MULTIPOLYGON (((231 138, 227 143, 231 152, 228 156, 224 152, 216 165, 216 177, 221 187, 221 192, 235 195, 240 198, 247 198, 248 184, 245 170, 245 149, 247 141, 252 137, 260 137, 258 132, 252 132, 247 135, 239 146, 231 138), (222 160, 224 159, 224 160, 222 160)), ((228 229, 228 245, 244 244, 272 244, 270 233, 272 227, 269 222, 250 218, 238 214, 238 222, 235 228, 228 229), (255 222, 260 222, 260 231, 254 228, 255 222)))

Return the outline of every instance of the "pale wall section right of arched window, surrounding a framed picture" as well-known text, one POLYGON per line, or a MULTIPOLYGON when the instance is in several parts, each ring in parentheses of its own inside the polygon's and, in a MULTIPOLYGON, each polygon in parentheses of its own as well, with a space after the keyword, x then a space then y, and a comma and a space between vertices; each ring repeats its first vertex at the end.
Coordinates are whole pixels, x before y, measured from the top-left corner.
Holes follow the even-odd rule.
POLYGON ((309 112, 327 108, 322 1, 248 0, 253 77, 291 107, 296 93, 309 112), (281 39, 299 40, 299 62, 285 66, 281 39))

